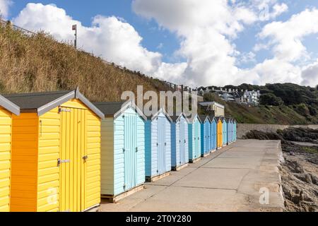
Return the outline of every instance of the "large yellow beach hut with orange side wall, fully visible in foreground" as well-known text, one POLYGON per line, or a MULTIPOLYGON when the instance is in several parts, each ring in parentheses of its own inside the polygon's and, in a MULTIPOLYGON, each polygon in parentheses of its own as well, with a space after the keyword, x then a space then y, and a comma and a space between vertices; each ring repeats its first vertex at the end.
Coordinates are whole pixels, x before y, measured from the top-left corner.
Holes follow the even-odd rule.
POLYGON ((85 211, 100 203, 100 121, 78 89, 7 95, 13 115, 11 211, 85 211))

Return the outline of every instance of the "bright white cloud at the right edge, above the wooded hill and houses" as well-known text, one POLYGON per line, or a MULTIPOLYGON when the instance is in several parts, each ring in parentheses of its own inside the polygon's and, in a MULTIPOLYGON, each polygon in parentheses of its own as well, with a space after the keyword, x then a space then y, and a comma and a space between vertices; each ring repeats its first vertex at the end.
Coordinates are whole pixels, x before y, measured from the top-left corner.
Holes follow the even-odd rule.
POLYGON ((271 48, 274 57, 257 64, 249 73, 267 74, 276 78, 276 82, 317 85, 317 63, 300 66, 310 61, 310 54, 302 40, 307 35, 318 33, 317 24, 318 10, 312 8, 293 15, 285 22, 275 21, 265 25, 258 36, 267 42, 257 44, 254 49, 271 48))

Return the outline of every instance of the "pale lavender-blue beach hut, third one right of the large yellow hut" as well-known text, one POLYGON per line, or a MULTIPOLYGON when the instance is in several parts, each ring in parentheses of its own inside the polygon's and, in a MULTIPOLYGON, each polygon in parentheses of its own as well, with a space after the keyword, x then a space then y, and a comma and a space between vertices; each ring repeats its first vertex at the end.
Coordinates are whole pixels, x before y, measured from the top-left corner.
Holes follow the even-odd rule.
POLYGON ((183 113, 171 119, 171 166, 179 170, 189 163, 188 121, 183 113))

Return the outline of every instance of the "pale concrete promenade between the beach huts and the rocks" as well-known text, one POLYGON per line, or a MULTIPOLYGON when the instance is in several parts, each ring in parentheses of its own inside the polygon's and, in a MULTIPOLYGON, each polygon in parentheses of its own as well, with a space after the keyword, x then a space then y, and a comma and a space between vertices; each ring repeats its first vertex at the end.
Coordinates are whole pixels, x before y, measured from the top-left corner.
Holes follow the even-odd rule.
POLYGON ((280 147, 238 140, 99 211, 282 211, 280 147))

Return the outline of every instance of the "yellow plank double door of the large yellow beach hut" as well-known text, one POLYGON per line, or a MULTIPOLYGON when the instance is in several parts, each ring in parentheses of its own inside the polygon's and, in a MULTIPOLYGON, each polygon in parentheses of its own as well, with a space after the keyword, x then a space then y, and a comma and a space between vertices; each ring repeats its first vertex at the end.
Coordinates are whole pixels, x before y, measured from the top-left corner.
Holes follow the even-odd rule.
POLYGON ((62 107, 59 210, 85 210, 86 110, 62 107))

